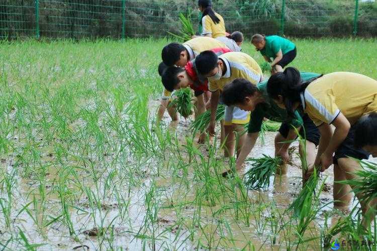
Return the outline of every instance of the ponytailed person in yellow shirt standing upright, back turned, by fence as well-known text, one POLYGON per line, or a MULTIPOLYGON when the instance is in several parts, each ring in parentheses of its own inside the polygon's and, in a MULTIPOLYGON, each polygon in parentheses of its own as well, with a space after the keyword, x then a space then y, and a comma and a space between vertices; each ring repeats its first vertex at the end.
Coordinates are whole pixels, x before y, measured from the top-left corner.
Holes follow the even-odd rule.
MULTIPOLYGON (((202 26, 201 36, 205 37, 225 37, 225 23, 223 17, 212 9, 211 0, 199 0, 199 10, 203 13, 200 24, 202 26)), ((196 36, 193 36, 196 37, 196 36)))

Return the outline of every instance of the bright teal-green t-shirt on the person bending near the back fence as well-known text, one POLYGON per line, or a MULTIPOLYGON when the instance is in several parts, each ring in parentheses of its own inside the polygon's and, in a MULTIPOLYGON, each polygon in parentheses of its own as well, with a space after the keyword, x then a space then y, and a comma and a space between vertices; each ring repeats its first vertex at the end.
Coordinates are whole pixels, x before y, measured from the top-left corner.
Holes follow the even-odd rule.
POLYGON ((294 50, 296 45, 289 41, 288 39, 279 37, 279 36, 267 36, 266 37, 266 45, 262 50, 260 50, 260 53, 263 56, 267 56, 269 58, 276 58, 276 54, 281 49, 282 54, 286 54, 287 52, 290 52, 294 50))

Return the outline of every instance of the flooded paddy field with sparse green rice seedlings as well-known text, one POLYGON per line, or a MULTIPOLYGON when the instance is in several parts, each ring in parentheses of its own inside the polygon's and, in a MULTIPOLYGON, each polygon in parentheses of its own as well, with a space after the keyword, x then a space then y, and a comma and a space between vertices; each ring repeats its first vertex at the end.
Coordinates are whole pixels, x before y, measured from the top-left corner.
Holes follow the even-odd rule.
MULTIPOLYGON (((1 42, 0 248, 292 250, 356 238, 356 216, 346 231, 324 228, 314 202, 300 218, 271 191, 224 179, 219 142, 198 147, 192 120, 155 126, 169 42, 1 42)), ((376 40, 294 42, 300 70, 377 78, 376 40)))

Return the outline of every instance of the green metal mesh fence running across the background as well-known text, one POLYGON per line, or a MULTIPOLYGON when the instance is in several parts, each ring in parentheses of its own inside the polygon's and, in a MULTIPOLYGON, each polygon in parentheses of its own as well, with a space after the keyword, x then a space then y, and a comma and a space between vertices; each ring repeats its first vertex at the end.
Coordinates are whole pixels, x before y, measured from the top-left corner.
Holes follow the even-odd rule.
MULTIPOLYGON (((163 37, 178 32, 180 12, 196 0, 3 0, 0 39, 163 37)), ((327 1, 328 2, 328 1, 327 1)), ((214 0, 227 31, 288 36, 377 36, 375 2, 328 5, 314 0, 214 0)), ((200 14, 193 17, 198 26, 200 14)))

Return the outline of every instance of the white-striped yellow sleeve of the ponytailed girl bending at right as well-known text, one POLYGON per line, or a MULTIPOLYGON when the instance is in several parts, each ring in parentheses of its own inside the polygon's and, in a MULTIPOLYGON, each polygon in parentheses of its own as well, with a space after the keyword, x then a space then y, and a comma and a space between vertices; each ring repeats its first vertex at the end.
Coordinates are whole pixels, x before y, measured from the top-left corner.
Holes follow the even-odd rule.
POLYGON ((304 97, 307 106, 305 111, 317 127, 323 122, 331 124, 340 113, 330 89, 316 96, 305 90, 304 97))

